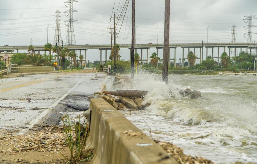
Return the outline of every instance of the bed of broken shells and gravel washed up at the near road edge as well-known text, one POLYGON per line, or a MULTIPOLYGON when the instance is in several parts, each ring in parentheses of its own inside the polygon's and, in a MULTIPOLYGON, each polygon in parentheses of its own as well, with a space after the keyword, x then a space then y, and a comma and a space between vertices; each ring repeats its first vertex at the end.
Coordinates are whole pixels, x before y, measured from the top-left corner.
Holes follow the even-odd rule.
POLYGON ((15 153, 35 150, 39 152, 62 151, 67 147, 66 137, 63 133, 63 126, 48 126, 44 130, 27 135, 12 135, 11 133, 0 134, 0 152, 15 153), (2 146, 8 146, 6 150, 1 150, 2 146))

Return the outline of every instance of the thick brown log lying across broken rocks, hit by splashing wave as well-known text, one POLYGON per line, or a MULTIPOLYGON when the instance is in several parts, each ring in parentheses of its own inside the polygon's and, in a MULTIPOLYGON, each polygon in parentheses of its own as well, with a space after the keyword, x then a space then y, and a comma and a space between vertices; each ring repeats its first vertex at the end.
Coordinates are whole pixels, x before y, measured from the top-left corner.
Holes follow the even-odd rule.
POLYGON ((104 91, 103 93, 112 94, 114 96, 142 98, 149 92, 150 91, 118 90, 118 91, 104 91))

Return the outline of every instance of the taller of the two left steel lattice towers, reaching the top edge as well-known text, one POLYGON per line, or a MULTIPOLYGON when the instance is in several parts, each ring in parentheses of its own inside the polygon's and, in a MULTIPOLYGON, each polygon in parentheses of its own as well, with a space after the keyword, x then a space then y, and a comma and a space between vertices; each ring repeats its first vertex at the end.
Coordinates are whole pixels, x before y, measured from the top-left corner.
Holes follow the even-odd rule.
POLYGON ((73 12, 77 12, 77 10, 73 10, 73 2, 78 2, 78 1, 68 0, 64 2, 64 3, 68 3, 68 5, 65 4, 65 6, 69 7, 69 10, 64 12, 65 15, 66 13, 68 13, 66 16, 69 16, 69 20, 64 21, 65 25, 68 27, 66 42, 65 42, 66 45, 76 45, 73 22, 77 22, 78 20, 73 19, 73 12))

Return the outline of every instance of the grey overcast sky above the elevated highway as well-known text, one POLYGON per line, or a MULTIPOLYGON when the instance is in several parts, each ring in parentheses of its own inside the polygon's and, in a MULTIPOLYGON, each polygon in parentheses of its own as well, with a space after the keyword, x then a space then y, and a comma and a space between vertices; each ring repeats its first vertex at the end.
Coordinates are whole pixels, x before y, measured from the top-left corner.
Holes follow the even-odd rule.
MULTIPOLYGON (((61 11, 61 34, 66 40, 67 27, 63 23, 68 18, 63 13, 68 10, 65 0, 0 0, 0 45, 33 45, 53 44, 55 21, 54 13, 61 11)), ((120 18, 121 6, 126 0, 78 0, 73 3, 75 38, 77 44, 110 44, 110 34, 107 27, 114 11, 120 18), (119 7, 118 7, 119 6, 119 7)), ((128 11, 118 24, 118 44, 131 43, 131 1, 128 11)), ((136 43, 163 42, 164 2, 165 0, 135 0, 136 1, 136 43), (158 39, 157 39, 157 25, 158 39)), ((170 43, 229 42, 229 26, 237 26, 237 42, 246 42, 243 33, 244 16, 256 15, 256 0, 171 0, 170 43)), ((253 20, 257 25, 257 20, 253 20)), ((252 28, 257 33, 257 27, 252 28)), ((257 36, 253 35, 253 40, 257 36)), ((99 58, 99 50, 89 50, 88 60, 99 58), (90 52, 89 52, 90 51, 90 52)), ((150 53, 155 51, 151 49, 150 53)), ((128 59, 128 50, 122 50, 122 58, 128 59)), ((108 52, 109 55, 109 52, 108 52)))

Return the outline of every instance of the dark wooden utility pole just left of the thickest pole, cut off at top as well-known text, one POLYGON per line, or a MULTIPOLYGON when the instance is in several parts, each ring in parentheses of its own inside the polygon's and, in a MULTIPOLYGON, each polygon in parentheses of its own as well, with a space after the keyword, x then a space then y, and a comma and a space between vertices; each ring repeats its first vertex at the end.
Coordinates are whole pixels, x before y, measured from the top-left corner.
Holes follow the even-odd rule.
POLYGON ((135 0, 132 0, 132 37, 131 37, 131 77, 134 77, 135 64, 135 0))

